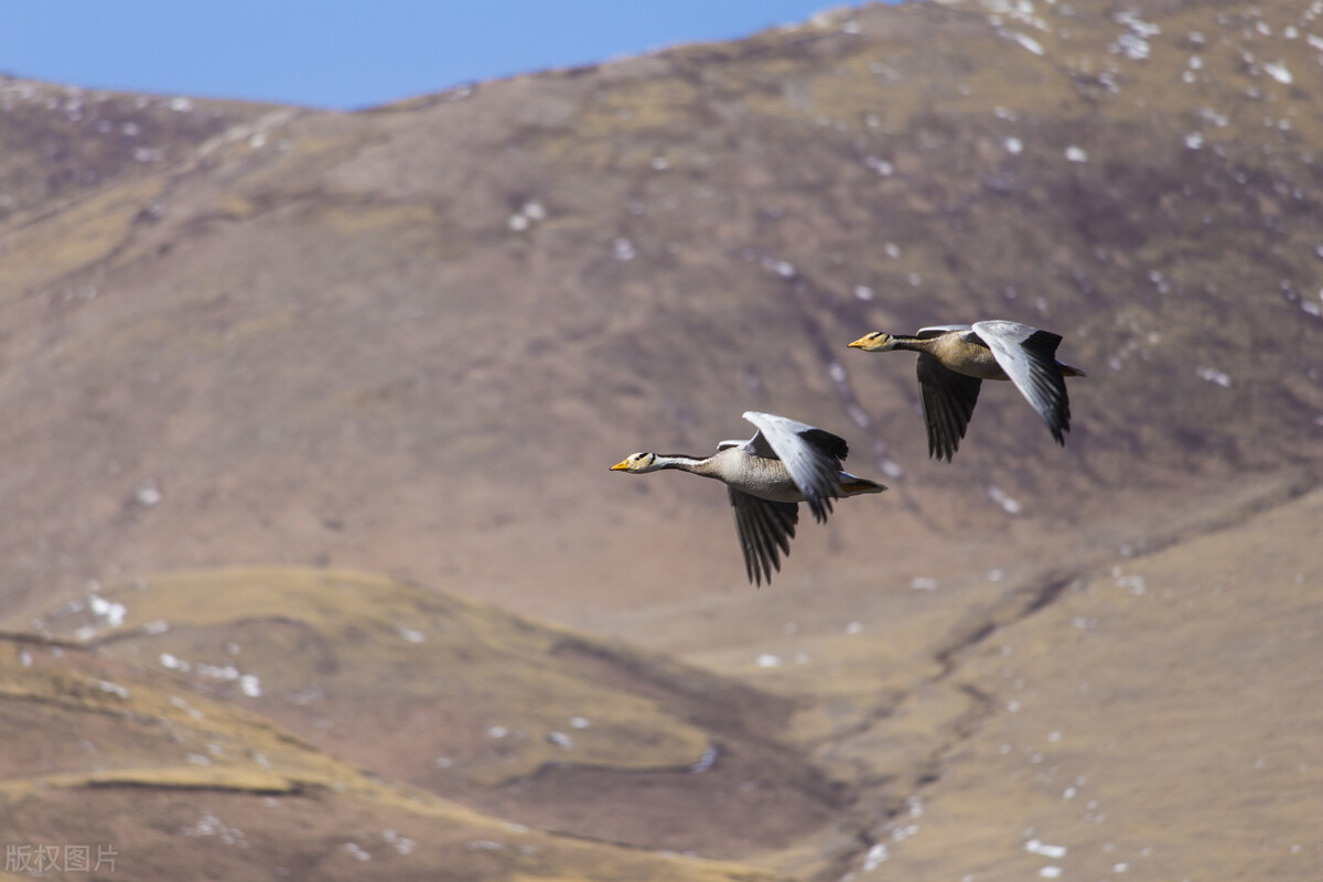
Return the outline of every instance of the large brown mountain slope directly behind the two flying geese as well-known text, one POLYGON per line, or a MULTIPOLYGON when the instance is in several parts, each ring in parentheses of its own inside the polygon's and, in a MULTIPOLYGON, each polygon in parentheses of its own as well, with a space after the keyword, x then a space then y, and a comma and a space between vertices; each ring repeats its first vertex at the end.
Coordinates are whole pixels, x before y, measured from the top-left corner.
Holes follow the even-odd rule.
POLYGON ((538 586, 646 603, 660 583, 605 574, 639 518, 681 510, 697 538, 658 528, 693 546, 679 581, 734 586, 720 495, 605 468, 708 450, 747 407, 892 472, 864 502, 884 533, 1078 525, 1312 468, 1318 50, 1216 4, 1043 15, 868 8, 300 114, 0 230, 42 257, 3 307, 24 329, 0 349, 5 591, 292 558, 574 614, 538 586), (990 315, 1060 331, 1090 372, 1069 444, 988 389, 937 468, 913 369, 844 344, 990 315))

